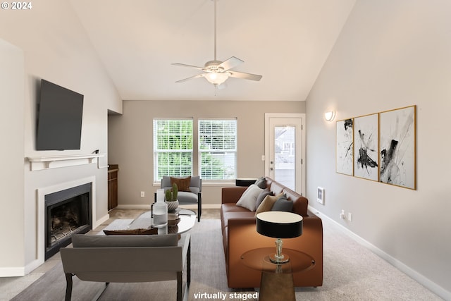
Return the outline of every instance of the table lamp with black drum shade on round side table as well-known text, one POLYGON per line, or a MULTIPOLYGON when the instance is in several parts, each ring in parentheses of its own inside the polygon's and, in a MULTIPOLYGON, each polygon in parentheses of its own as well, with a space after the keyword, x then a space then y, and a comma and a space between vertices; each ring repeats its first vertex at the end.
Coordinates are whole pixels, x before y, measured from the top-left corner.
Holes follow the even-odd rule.
POLYGON ((257 232, 276 238, 276 254, 269 259, 275 264, 289 262, 288 255, 282 253, 282 238, 296 238, 302 235, 302 216, 285 211, 266 211, 257 214, 257 232))

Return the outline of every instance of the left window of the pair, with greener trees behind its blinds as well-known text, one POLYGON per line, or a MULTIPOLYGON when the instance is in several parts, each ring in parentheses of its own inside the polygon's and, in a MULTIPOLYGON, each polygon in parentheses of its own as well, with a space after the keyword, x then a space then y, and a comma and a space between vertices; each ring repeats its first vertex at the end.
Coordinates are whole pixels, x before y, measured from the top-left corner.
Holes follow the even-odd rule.
POLYGON ((192 119, 154 119, 154 180, 192 175, 192 119))

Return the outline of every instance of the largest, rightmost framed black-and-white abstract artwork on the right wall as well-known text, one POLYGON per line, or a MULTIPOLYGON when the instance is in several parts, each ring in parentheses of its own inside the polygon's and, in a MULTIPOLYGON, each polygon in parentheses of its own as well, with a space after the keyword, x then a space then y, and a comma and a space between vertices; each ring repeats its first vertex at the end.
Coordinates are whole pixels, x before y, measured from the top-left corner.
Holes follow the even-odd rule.
POLYGON ((416 189, 416 106, 380 113, 379 180, 416 189))

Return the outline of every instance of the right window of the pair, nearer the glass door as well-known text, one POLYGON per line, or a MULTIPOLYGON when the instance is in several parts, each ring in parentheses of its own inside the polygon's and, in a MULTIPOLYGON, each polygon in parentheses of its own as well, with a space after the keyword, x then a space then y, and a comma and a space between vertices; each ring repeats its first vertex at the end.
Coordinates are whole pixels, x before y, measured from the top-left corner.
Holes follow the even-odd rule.
POLYGON ((204 180, 236 178, 237 121, 199 120, 199 174, 204 180))

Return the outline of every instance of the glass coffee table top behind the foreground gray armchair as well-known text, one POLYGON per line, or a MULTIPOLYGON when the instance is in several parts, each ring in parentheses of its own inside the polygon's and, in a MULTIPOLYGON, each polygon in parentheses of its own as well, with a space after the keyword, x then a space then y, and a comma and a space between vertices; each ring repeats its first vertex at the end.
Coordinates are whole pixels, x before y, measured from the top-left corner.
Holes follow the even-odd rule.
POLYGON ((155 234, 182 234, 190 231, 196 223, 196 213, 189 209, 180 209, 178 219, 168 219, 166 226, 154 226, 152 211, 146 211, 136 219, 116 219, 104 228, 104 231, 132 231, 136 229, 155 229, 155 234))

